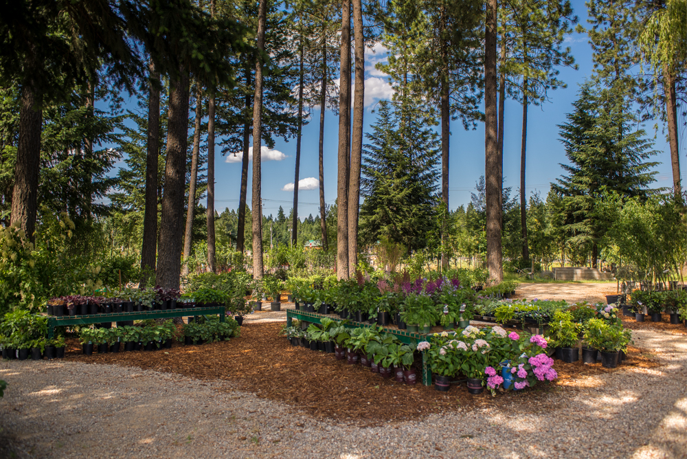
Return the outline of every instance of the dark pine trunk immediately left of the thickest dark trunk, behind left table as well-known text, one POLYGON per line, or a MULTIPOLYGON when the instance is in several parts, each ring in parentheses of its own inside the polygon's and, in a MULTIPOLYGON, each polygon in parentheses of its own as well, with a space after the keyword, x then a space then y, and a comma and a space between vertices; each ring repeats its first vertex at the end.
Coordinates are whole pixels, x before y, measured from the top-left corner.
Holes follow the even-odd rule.
MULTIPOLYGON (((160 74, 150 63, 150 84, 148 86, 148 144, 146 145, 146 208, 143 216, 143 243, 141 246, 141 268, 155 271, 157 251, 157 173, 160 132, 160 74)), ((142 282, 144 279, 142 279, 142 282)))

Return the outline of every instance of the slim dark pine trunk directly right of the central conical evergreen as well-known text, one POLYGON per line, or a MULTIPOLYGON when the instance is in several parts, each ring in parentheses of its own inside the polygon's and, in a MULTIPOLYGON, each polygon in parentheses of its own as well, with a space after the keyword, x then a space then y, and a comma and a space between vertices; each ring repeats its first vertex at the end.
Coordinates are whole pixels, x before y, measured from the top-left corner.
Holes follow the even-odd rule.
MULTIPOLYGON (((446 14, 442 11, 442 16, 446 14)), ((446 22, 442 19, 442 29, 445 29, 446 22)), ((442 32, 444 32, 442 30, 442 32)), ((449 44, 446 41, 441 43, 441 200, 446 207, 444 218, 442 219, 441 243, 444 248, 441 254, 441 269, 449 268, 449 254, 447 253, 447 216, 449 214, 449 142, 451 131, 451 113, 449 110, 449 44)))

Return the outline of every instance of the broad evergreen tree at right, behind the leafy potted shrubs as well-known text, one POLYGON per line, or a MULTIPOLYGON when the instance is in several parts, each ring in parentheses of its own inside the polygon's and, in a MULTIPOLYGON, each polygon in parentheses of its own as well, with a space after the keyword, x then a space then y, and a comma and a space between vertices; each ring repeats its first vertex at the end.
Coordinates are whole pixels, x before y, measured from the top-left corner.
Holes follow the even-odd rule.
POLYGON ((563 197, 565 226, 571 243, 592 251, 596 267, 598 241, 605 232, 605 222, 598 221, 594 208, 601 192, 615 191, 622 197, 642 197, 657 172, 657 163, 646 162, 655 151, 653 142, 644 139, 644 131, 628 132, 636 122, 631 102, 617 98, 612 89, 599 89, 589 82, 579 91, 568 122, 559 126, 561 142, 570 165, 552 184, 563 197))

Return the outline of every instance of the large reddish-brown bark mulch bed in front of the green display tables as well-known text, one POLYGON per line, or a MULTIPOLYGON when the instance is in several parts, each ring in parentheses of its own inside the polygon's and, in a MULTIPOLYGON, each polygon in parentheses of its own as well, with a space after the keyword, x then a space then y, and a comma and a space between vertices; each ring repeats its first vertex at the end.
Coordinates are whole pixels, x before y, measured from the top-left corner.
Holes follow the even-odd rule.
MULTIPOLYGON (((291 346, 280 336, 282 324, 244 324, 241 336, 229 342, 184 346, 174 342, 171 349, 155 352, 118 352, 83 355, 76 339, 67 340, 66 358, 84 363, 110 363, 145 370, 173 372, 196 379, 221 379, 265 399, 294 405, 313 416, 335 418, 366 425, 425 417, 459 407, 527 407, 541 394, 574 386, 583 376, 616 371, 583 363, 556 361, 560 379, 523 392, 508 391, 492 397, 467 392, 464 382, 449 392, 438 392, 420 383, 407 386, 382 379, 369 369, 337 361, 333 354, 291 346)), ((620 366, 655 366, 637 348, 631 348, 620 366)))

